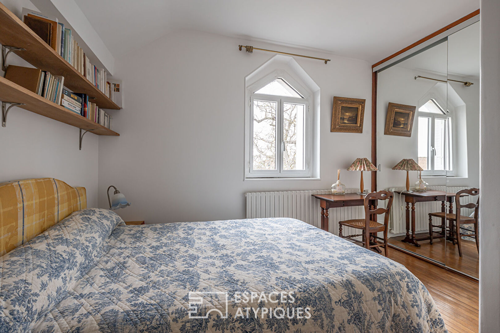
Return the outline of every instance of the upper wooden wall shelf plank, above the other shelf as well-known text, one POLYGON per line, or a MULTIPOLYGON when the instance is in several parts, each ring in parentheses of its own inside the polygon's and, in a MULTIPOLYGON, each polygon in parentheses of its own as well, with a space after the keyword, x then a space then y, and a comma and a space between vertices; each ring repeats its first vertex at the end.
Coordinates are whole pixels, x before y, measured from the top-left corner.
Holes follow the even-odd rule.
MULTIPOLYGON (((36 68, 46 70, 52 75, 64 76, 64 85, 66 87, 74 92, 85 93, 89 97, 93 97, 94 99, 91 99, 91 102, 95 103, 99 108, 119 109, 118 105, 57 54, 50 45, 38 37, 36 33, 8 10, 1 2, 0 44, 24 48, 24 51, 12 52, 15 52, 18 56, 36 68)), ((8 101, 23 102, 22 100, 8 101)))

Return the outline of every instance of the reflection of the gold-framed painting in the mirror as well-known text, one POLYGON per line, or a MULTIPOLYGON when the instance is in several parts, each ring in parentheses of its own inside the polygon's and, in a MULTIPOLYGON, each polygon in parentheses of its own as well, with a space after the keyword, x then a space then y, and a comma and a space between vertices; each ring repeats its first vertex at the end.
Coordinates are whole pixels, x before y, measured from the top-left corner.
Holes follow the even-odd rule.
POLYGON ((385 135, 411 136, 415 106, 389 103, 385 120, 385 135))

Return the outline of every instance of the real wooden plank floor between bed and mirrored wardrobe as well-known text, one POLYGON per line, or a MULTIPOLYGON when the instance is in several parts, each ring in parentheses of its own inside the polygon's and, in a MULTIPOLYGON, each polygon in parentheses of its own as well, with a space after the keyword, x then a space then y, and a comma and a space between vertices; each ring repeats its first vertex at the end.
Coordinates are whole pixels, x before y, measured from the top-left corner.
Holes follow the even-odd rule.
POLYGON ((478 332, 479 284, 476 281, 394 249, 389 249, 389 258, 404 265, 423 283, 449 333, 478 332))

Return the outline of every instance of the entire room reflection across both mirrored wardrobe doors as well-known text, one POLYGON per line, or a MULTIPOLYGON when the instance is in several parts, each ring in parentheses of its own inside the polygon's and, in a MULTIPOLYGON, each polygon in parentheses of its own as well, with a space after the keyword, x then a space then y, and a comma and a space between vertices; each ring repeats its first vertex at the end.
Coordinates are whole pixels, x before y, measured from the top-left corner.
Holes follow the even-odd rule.
POLYGON ((478 278, 479 22, 378 71, 376 121, 388 243, 478 278))

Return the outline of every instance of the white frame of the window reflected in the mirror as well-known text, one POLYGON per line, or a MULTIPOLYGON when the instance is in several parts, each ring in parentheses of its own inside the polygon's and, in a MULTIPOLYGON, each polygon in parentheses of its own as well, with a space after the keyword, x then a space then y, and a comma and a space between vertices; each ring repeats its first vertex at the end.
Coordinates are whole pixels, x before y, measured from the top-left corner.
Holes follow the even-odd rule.
MULTIPOLYGON (((438 105, 440 109, 442 109, 442 106, 440 106, 439 102, 435 100, 435 98, 430 98, 434 99, 434 102, 438 105)), ((423 104, 422 104, 423 105, 423 104)), ((444 111, 444 110, 443 110, 444 111)), ((453 145, 454 145, 454 135, 455 131, 453 130, 453 118, 450 114, 450 112, 447 112, 446 114, 438 114, 438 113, 430 113, 430 112, 422 112, 418 111, 418 117, 425 117, 429 118, 429 129, 427 131, 428 138, 427 138, 427 156, 429 157, 427 159, 427 166, 429 167, 429 170, 423 170, 422 171, 422 176, 454 176, 454 170, 455 170, 455 165, 454 165, 454 160, 453 160, 453 145), (445 138, 445 156, 444 158, 446 159, 444 162, 444 165, 451 165, 451 170, 434 170, 434 156, 435 152, 433 151, 434 148, 434 130, 435 130, 435 119, 443 119, 445 121, 445 133, 444 133, 444 138, 445 138), (448 124, 450 122, 450 124, 448 124), (448 134, 448 128, 452 129, 451 135, 448 134), (451 136, 451 138, 449 138, 451 136), (449 142, 451 141, 451 142, 449 142), (450 147, 451 145, 451 147, 450 147), (447 159, 451 160, 448 161, 447 159)), ((418 141, 417 141, 418 142, 418 141)))

